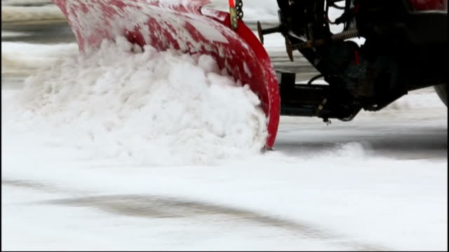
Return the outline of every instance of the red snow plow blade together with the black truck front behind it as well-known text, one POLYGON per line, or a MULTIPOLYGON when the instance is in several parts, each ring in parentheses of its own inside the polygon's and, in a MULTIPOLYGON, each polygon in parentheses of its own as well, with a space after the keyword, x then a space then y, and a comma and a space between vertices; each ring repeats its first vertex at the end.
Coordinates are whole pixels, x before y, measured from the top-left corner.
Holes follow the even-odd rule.
POLYGON ((362 109, 380 111, 430 86, 447 103, 447 0, 277 0, 279 26, 257 24, 259 38, 241 20, 242 0, 229 0, 229 12, 206 8, 207 0, 52 1, 81 51, 126 36, 158 50, 212 56, 260 98, 267 148, 274 146, 280 115, 349 121, 362 109), (340 10, 340 17, 331 20, 330 9, 340 10), (331 25, 342 30, 331 32, 331 25), (262 45, 272 33, 283 35, 291 61, 297 50, 319 75, 307 84, 297 83, 292 72, 276 76, 262 45), (327 84, 314 84, 318 78, 327 84))

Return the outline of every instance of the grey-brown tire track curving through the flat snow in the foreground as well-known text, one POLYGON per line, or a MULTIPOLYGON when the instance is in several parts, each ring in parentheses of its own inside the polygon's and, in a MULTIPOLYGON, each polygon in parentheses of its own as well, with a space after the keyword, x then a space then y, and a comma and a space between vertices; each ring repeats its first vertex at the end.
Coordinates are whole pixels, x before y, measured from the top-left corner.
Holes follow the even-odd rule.
POLYGON ((261 225, 262 227, 278 228, 297 235, 299 239, 301 237, 308 237, 316 241, 326 242, 330 245, 347 247, 354 251, 390 251, 382 246, 340 237, 326 230, 314 228, 312 225, 306 223, 207 202, 182 200, 160 195, 93 195, 93 193, 83 192, 81 190, 71 190, 25 180, 2 179, 1 185, 28 188, 30 190, 42 190, 47 193, 65 193, 72 196, 60 200, 37 202, 38 204, 93 207, 111 214, 140 218, 189 218, 194 221, 203 222, 220 220, 221 223, 226 225, 232 225, 233 222, 248 222, 261 225))

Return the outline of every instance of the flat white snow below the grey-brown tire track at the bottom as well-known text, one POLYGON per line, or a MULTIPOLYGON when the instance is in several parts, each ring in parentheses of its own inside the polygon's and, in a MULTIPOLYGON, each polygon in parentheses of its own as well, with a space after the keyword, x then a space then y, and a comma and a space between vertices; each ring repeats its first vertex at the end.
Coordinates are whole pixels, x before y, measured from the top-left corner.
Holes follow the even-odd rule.
MULTIPOLYGON (((15 211, 16 214, 2 220, 2 225, 8 225, 8 232, 4 232, 2 239, 10 241, 20 250, 101 250, 105 248, 123 251, 177 251, 203 250, 204 248, 238 251, 258 248, 277 247, 307 247, 314 250, 331 248, 330 244, 317 244, 316 241, 306 239, 298 241, 300 234, 291 232, 286 235, 283 230, 269 228, 257 223, 242 221, 236 223, 232 216, 212 214, 205 221, 197 217, 187 218, 141 218, 139 216, 118 216, 113 213, 86 209, 83 207, 69 207, 64 204, 36 204, 24 209, 22 197, 46 201, 59 200, 65 197, 63 193, 34 193, 32 190, 20 188, 2 188, 7 204, 2 210, 6 213, 15 211), (52 216, 48 216, 52 213, 52 216), (35 218, 42 216, 43 218, 35 218), (223 228, 223 224, 234 222, 234 225, 223 228), (4 223, 6 222, 6 224, 4 223), (27 230, 22 227, 27 226, 27 230), (46 228, 41 228, 46 227, 46 228), (88 232, 86 232, 88 230, 88 232), (34 233, 39 232, 39 236, 34 233), (95 235, 92 235, 95 233, 95 235), (196 239, 201 236, 201 239, 196 239), (267 237, 260 241, 260 237, 267 237), (24 238, 28 242, 23 242, 24 238), (196 240, 192 242, 192 240, 196 240), (232 243, 228 241, 232 240, 232 243), (327 245, 327 246, 326 246, 327 245)), ((126 202, 116 202, 117 204, 126 202)), ((151 200, 150 200, 151 202, 151 200)), ((136 207, 145 207, 145 203, 137 202, 136 207), (140 205, 139 205, 140 203, 140 205)), ((155 214, 157 216, 157 214, 155 214)), ((235 217, 234 217, 235 218, 235 217)), ((8 248, 9 246, 4 246, 8 248)), ((332 246, 340 248, 342 246, 332 246)))

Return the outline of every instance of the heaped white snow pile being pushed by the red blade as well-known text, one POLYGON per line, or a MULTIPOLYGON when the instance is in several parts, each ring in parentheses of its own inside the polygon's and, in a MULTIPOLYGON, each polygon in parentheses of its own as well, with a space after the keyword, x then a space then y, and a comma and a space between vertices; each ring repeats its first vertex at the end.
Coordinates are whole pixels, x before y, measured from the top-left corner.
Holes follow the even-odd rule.
POLYGON ((211 57, 142 50, 125 38, 36 71, 15 100, 15 130, 139 165, 254 155, 267 137, 257 96, 211 57))

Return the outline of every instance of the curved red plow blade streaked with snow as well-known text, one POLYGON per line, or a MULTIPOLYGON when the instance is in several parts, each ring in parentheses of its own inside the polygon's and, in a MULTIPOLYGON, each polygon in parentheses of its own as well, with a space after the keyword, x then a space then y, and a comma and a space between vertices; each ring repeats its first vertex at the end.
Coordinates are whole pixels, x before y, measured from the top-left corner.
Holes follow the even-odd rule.
MULTIPOLYGON (((210 55, 221 69, 248 84, 267 115, 267 148, 279 125, 279 86, 272 62, 253 31, 229 13, 201 8, 206 0, 52 0, 67 16, 81 51, 104 38, 126 36, 158 50, 210 55)), ((232 101, 229 101, 232 102, 232 101)))

